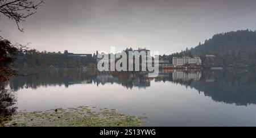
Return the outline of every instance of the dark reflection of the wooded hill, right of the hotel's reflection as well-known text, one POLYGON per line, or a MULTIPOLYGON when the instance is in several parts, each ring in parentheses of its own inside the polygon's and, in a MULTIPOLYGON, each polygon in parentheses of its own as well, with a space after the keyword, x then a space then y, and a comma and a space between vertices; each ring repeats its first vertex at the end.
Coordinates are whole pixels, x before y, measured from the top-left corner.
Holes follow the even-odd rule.
POLYGON ((203 72, 191 87, 203 91, 214 101, 236 105, 256 104, 256 76, 253 70, 203 72))

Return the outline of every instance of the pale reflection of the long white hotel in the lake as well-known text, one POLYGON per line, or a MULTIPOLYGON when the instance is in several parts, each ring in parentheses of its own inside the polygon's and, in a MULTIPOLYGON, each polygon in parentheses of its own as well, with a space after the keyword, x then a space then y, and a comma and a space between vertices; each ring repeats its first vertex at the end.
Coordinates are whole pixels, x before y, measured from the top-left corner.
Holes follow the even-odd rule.
POLYGON ((172 80, 200 80, 202 74, 201 72, 183 72, 183 70, 174 70, 172 73, 172 80))

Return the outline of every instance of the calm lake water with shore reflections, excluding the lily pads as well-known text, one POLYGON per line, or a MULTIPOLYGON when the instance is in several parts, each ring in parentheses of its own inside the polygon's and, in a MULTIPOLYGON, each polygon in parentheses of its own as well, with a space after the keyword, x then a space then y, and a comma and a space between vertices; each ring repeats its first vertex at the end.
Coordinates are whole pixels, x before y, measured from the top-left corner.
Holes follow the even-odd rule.
POLYGON ((144 126, 256 126, 253 70, 164 70, 147 73, 34 70, 15 77, 16 110, 97 106, 146 113, 144 126))

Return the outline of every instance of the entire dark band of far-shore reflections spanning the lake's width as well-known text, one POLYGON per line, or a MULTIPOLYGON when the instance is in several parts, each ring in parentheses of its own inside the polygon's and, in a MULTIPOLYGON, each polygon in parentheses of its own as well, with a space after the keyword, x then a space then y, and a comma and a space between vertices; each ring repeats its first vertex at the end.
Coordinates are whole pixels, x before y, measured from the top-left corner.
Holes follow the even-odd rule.
POLYGON ((97 70, 53 69, 35 70, 33 76, 15 77, 10 87, 18 90, 39 86, 61 86, 76 83, 105 85, 117 83, 133 89, 146 89, 151 81, 172 82, 203 92, 214 101, 237 105, 256 104, 256 76, 253 70, 171 70, 160 72, 156 78, 148 78, 146 72, 98 72, 97 70))

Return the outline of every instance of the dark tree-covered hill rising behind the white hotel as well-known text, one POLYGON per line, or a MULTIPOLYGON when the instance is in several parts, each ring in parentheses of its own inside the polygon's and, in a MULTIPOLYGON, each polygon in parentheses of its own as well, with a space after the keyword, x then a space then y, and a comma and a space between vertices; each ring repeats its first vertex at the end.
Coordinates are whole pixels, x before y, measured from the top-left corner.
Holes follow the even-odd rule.
MULTIPOLYGON (((185 51, 184 51, 185 52, 185 51)), ((184 53, 183 52, 183 53, 184 53)), ((256 31, 240 30, 216 34, 189 50, 193 56, 215 55, 218 65, 256 65, 256 31)))

